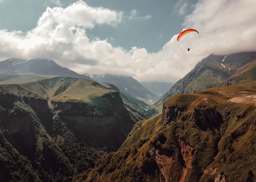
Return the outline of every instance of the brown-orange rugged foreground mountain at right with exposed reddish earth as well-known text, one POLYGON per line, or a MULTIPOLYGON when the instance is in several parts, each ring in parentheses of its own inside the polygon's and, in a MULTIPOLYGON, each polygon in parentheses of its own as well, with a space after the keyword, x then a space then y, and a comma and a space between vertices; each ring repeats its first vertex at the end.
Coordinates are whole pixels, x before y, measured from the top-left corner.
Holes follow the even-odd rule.
POLYGON ((173 96, 85 181, 255 181, 255 94, 233 85, 173 96))

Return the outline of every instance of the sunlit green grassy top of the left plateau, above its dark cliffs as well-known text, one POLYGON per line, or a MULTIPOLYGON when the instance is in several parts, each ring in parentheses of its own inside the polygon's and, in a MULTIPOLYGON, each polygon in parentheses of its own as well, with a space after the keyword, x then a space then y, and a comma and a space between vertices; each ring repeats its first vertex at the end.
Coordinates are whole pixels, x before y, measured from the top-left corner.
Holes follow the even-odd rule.
POLYGON ((98 102, 99 98, 111 90, 86 78, 53 77, 36 82, 2 84, 1 90, 20 96, 36 96, 65 102, 69 99, 98 102))

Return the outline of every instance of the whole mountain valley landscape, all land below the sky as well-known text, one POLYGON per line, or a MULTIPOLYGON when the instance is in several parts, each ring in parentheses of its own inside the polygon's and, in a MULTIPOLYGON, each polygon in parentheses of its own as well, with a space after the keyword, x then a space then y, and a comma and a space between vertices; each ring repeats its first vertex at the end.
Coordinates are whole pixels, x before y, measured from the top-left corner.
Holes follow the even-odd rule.
POLYGON ((255 69, 255 52, 211 54, 149 84, 1 61, 0 180, 254 181, 255 69))

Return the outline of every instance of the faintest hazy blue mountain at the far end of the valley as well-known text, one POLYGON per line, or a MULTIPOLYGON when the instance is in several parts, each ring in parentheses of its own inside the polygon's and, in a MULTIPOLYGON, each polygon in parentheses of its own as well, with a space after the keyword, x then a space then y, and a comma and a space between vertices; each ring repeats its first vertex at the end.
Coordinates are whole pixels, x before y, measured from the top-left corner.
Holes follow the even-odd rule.
POLYGON ((156 93, 158 97, 164 95, 175 83, 168 82, 140 82, 143 86, 156 93))

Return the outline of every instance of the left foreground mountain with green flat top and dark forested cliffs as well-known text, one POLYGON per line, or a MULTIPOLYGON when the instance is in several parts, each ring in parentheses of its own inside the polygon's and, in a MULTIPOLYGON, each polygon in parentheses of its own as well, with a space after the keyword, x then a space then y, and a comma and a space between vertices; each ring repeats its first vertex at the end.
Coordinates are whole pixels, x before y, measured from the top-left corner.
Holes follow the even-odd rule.
POLYGON ((87 78, 0 85, 0 181, 82 181, 134 119, 119 92, 87 78))

